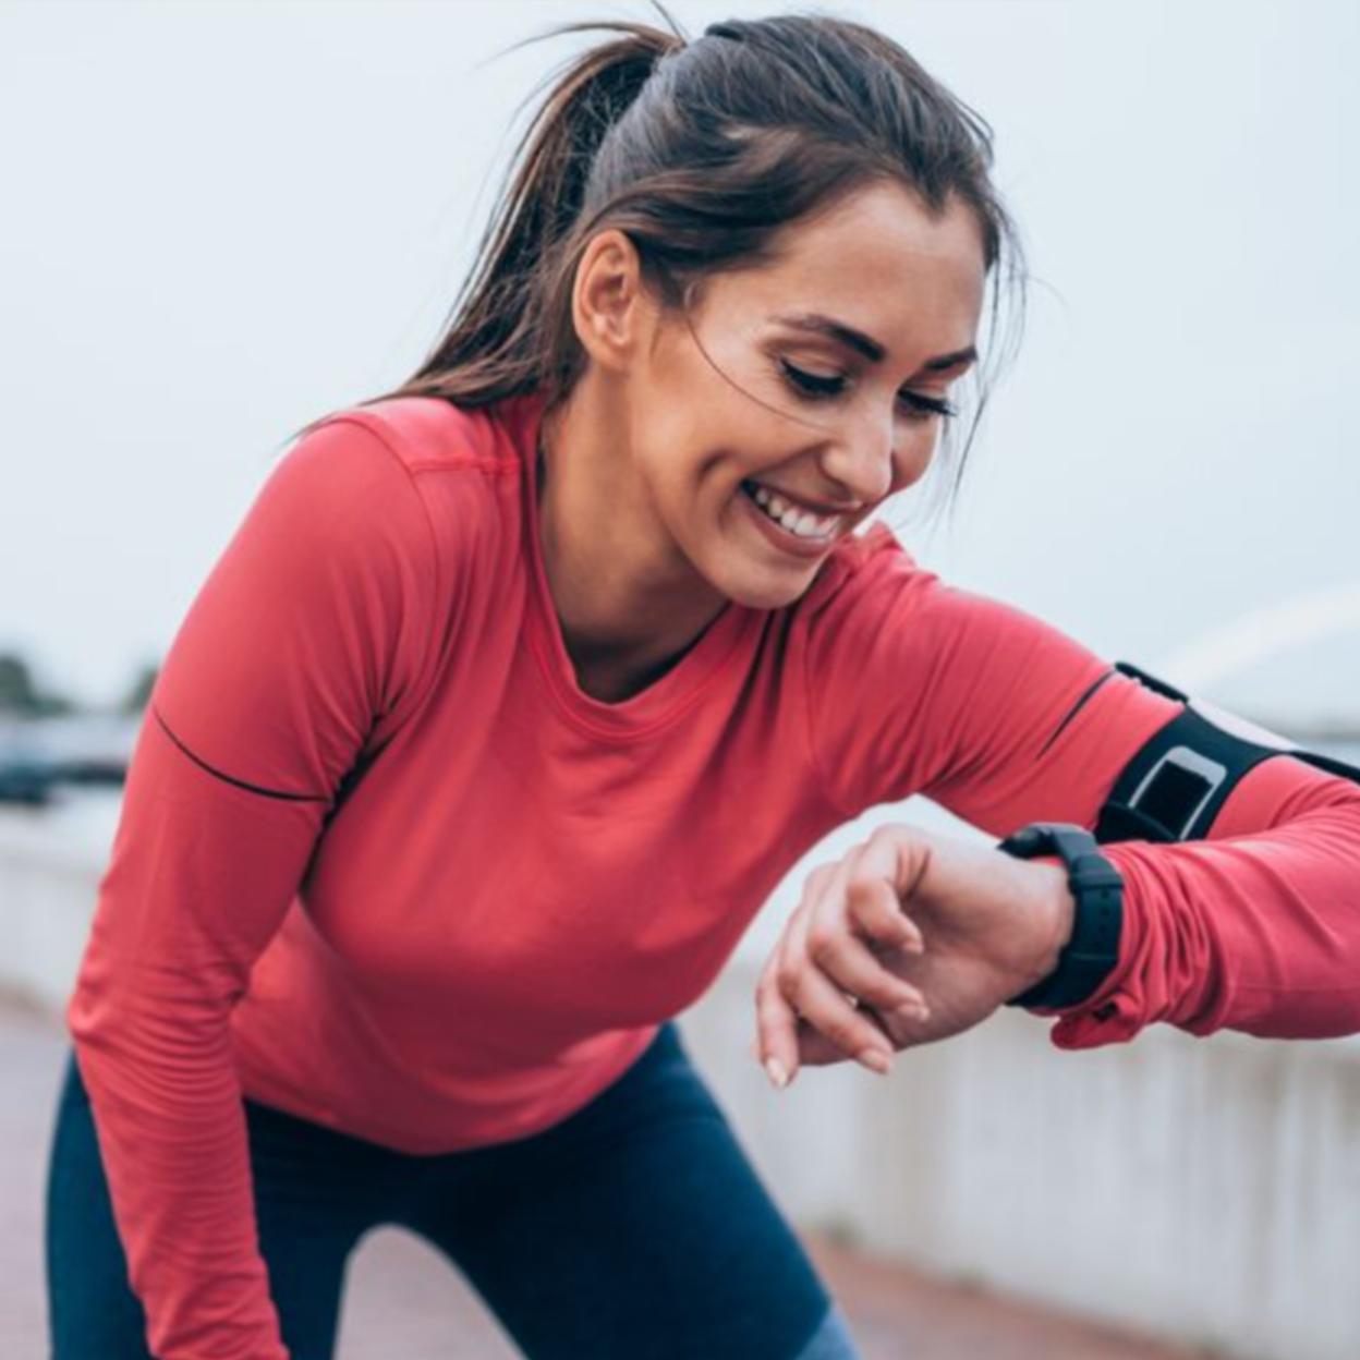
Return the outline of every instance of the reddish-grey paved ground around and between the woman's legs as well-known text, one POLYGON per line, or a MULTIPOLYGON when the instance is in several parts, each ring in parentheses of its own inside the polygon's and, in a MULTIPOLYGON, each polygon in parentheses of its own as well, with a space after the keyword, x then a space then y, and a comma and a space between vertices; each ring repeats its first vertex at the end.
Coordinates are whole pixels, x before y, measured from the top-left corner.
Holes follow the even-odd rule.
MULTIPOLYGON (((0 1355, 48 1355, 42 1194, 65 1036, 0 997, 0 1355)), ((865 1360, 1193 1360, 1190 1352, 997 1299, 809 1239, 865 1360)), ((442 1257, 396 1228, 371 1234, 348 1277, 337 1360, 517 1360, 442 1257)), ((582 1360, 589 1357, 582 1356, 582 1360)), ((696 1356, 695 1360, 706 1360, 696 1356)), ((1223 1357, 1220 1357, 1223 1360, 1223 1357)))

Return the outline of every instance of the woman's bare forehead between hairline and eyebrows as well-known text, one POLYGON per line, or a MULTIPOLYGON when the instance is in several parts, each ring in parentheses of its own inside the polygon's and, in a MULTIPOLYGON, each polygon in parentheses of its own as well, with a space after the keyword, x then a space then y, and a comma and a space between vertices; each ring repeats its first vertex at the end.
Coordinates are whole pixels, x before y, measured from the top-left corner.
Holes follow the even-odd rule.
POLYGON ((786 227, 772 261, 728 276, 725 291, 748 317, 830 313, 906 356, 968 344, 985 277, 971 208, 953 199, 932 214, 908 189, 879 184, 786 227))

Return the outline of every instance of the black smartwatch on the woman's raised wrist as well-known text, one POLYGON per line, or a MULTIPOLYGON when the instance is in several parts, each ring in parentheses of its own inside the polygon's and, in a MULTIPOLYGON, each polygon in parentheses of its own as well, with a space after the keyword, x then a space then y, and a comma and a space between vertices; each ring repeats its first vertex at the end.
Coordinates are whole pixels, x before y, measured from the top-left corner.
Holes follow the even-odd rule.
POLYGON ((1095 993, 1119 957, 1123 879, 1100 853, 1095 836, 1069 821, 1034 821, 997 845, 1017 860, 1057 854, 1068 866, 1074 902, 1072 938, 1058 966, 1008 1006, 1074 1006, 1095 993))

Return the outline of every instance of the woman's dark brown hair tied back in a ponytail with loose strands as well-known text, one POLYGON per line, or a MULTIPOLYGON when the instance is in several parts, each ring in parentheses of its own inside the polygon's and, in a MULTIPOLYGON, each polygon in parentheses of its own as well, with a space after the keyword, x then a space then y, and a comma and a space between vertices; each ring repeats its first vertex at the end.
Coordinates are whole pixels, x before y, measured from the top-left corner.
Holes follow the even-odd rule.
POLYGON ((626 233, 661 305, 685 313, 706 277, 771 260, 781 228, 891 180, 930 212, 957 197, 982 230, 989 333, 957 491, 1005 358, 996 348, 1004 294, 1017 303, 1006 313, 1012 339, 1024 302, 1020 242, 990 181, 991 129, 864 24, 789 14, 714 23, 691 41, 653 4, 669 31, 601 20, 525 39, 616 34, 554 73, 442 337, 411 378, 360 405, 423 394, 481 407, 541 389, 551 408, 585 366, 571 288, 596 233, 626 233))

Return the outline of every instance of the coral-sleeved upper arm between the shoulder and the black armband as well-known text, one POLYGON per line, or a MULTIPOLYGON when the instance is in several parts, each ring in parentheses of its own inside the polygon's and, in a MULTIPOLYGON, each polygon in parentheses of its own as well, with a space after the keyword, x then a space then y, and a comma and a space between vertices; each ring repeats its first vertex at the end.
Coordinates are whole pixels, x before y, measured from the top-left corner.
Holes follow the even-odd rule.
POLYGON ((1180 704, 1042 619, 889 547, 809 649, 812 740, 849 813, 921 793, 1006 835, 1093 828, 1127 760, 1180 704))

